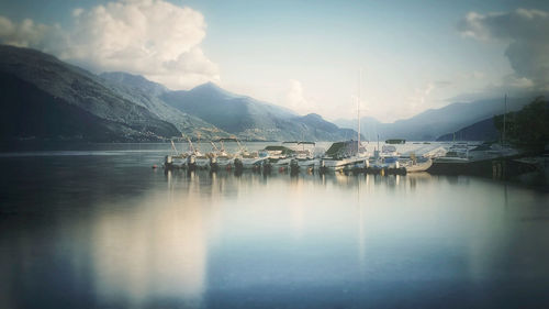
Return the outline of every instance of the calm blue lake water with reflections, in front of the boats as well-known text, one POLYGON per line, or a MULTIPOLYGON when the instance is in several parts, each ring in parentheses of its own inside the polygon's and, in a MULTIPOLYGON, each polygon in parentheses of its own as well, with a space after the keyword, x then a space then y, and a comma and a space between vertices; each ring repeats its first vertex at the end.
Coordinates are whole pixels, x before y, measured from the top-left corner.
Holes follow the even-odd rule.
POLYGON ((0 308, 549 307, 547 194, 165 174, 163 154, 1 156, 0 308))

